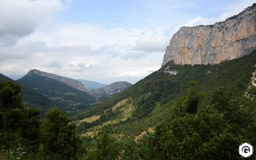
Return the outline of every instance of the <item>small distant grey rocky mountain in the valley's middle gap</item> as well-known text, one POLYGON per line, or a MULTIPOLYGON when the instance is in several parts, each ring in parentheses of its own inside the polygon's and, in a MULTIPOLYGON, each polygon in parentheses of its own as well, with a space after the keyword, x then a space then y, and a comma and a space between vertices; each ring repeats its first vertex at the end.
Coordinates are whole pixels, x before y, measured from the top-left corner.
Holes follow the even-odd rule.
POLYGON ((91 90, 88 93, 100 101, 100 100, 108 99, 109 97, 112 97, 116 93, 123 92, 130 86, 132 86, 131 83, 120 81, 120 82, 111 83, 108 86, 104 86, 103 88, 91 90))

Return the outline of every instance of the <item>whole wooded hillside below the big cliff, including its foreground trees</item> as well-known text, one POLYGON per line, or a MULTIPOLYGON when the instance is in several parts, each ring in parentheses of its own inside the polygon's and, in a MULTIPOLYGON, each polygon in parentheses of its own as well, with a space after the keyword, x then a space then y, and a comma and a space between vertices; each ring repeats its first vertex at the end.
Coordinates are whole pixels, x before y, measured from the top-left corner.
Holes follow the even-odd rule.
POLYGON ((170 62, 73 120, 95 150, 89 157, 99 156, 108 137, 110 148, 128 145, 116 155, 135 159, 236 159, 243 141, 255 144, 255 64, 255 51, 219 65, 170 62))

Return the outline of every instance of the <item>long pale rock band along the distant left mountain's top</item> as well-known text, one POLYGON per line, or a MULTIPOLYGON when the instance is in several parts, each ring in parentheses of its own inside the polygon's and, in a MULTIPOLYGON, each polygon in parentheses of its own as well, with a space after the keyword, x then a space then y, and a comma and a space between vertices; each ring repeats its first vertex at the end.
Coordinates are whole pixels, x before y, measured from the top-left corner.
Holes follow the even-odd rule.
POLYGON ((62 83, 67 84, 68 86, 72 86, 73 88, 76 88, 77 90, 81 90, 83 92, 86 92, 86 89, 84 87, 84 84, 71 78, 58 76, 55 74, 49 74, 47 72, 41 72, 40 70, 29 70, 28 74, 26 76, 31 76, 33 74, 36 74, 37 76, 41 77, 48 77, 50 79, 55 79, 57 81, 60 81, 62 83))

